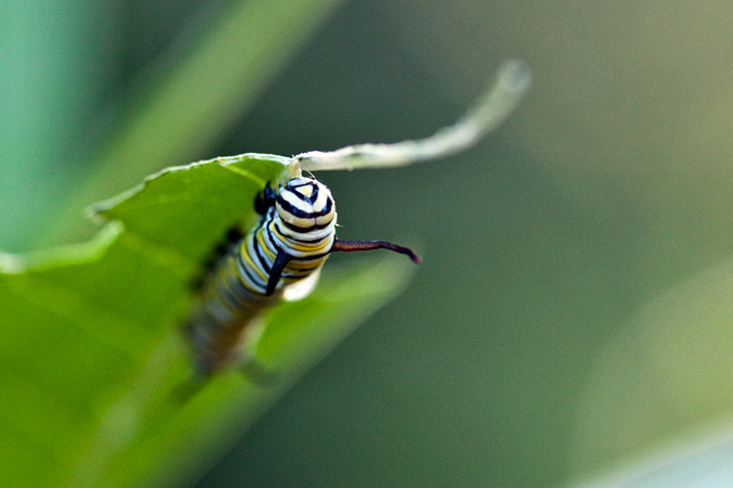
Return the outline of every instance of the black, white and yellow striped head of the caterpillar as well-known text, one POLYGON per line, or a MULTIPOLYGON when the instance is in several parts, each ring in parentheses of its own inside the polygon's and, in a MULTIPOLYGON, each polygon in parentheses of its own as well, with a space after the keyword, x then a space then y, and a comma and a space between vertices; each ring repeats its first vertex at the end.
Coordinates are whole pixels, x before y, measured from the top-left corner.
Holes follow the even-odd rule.
POLYGON ((336 226, 331 191, 311 178, 293 178, 280 187, 275 208, 280 220, 299 233, 330 231, 336 226))

